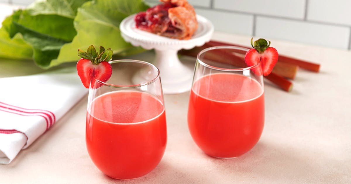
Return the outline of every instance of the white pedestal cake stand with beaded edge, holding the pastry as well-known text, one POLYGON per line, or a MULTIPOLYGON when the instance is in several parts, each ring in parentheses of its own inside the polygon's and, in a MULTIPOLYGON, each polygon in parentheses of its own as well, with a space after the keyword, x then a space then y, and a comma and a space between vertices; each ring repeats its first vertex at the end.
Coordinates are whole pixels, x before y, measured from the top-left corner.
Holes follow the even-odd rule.
POLYGON ((125 18, 119 28, 126 42, 144 49, 155 49, 154 64, 160 70, 164 94, 177 94, 190 90, 194 66, 188 67, 178 59, 177 52, 181 49, 192 49, 210 41, 213 25, 206 18, 197 15, 198 29, 191 39, 171 39, 157 34, 139 30, 135 27, 134 15, 125 18))

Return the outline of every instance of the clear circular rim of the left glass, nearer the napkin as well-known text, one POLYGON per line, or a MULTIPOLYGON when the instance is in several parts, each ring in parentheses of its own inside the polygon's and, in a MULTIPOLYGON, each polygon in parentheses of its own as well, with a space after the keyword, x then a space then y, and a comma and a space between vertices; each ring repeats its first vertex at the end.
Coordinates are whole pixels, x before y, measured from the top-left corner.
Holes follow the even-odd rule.
POLYGON ((109 61, 108 63, 114 64, 114 63, 127 63, 127 62, 130 62, 130 63, 141 63, 141 64, 145 64, 145 65, 151 66, 151 68, 153 68, 153 69, 155 69, 157 71, 157 75, 156 75, 156 77, 154 77, 152 80, 150 80, 148 82, 144 82, 144 83, 141 83, 141 84, 134 84, 134 85, 110 84, 110 83, 107 83, 108 80, 106 82, 102 82, 102 81, 98 80, 97 78, 95 78, 93 76, 94 80, 96 82, 98 82, 99 84, 106 85, 108 87, 113 87, 113 88, 138 88, 138 87, 141 87, 141 86, 144 86, 144 85, 151 84, 151 83, 157 81, 160 78, 160 70, 155 65, 153 65, 153 64, 151 64, 149 62, 146 62, 146 61, 140 61, 140 60, 135 60, 135 59, 118 59, 118 60, 109 61))

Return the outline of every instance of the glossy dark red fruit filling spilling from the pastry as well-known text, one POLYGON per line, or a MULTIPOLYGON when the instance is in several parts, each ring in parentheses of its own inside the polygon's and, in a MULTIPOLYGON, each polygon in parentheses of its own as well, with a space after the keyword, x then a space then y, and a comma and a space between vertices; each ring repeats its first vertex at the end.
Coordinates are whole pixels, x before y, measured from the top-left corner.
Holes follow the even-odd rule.
POLYGON ((176 7, 171 3, 159 4, 135 15, 135 25, 141 30, 152 33, 176 33, 181 31, 174 27, 168 17, 168 9, 176 7))

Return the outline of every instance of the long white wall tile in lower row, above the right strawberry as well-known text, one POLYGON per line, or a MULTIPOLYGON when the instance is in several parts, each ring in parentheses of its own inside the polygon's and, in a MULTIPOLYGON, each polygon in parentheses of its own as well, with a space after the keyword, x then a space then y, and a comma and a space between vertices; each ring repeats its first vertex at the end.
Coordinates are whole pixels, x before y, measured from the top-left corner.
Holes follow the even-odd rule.
POLYGON ((350 36, 350 28, 299 20, 257 17, 256 36, 347 49, 349 40, 345 38, 350 36))

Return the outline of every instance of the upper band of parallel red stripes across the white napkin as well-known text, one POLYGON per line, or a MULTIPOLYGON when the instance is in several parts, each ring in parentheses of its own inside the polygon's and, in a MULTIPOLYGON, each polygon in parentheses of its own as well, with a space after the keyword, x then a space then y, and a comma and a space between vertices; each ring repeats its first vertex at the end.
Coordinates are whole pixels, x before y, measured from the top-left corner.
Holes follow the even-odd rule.
POLYGON ((18 106, 13 106, 4 102, 0 102, 0 110, 22 116, 41 116, 46 121, 46 130, 49 129, 56 121, 54 113, 48 110, 26 109, 18 106))

